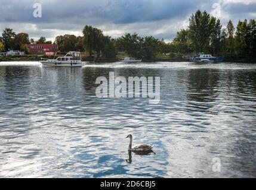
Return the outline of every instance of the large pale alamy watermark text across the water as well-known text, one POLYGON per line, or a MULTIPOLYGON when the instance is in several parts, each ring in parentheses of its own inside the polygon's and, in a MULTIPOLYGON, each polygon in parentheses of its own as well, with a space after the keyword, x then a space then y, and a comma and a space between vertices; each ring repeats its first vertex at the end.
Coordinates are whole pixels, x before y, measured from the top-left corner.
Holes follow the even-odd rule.
POLYGON ((95 90, 99 98, 143 97, 149 98, 149 104, 160 102, 160 77, 128 77, 127 80, 125 77, 115 78, 115 72, 109 72, 109 81, 106 77, 98 77, 95 84, 100 84, 95 90))

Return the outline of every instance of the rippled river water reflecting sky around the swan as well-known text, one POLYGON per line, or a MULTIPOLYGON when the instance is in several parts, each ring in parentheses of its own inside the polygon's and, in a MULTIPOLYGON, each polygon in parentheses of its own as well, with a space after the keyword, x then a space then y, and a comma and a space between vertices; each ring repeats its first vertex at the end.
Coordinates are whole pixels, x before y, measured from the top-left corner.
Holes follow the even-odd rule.
POLYGON ((255 103, 255 64, 0 62, 0 177, 255 178, 255 103), (96 97, 110 71, 161 77, 161 101, 96 97))

